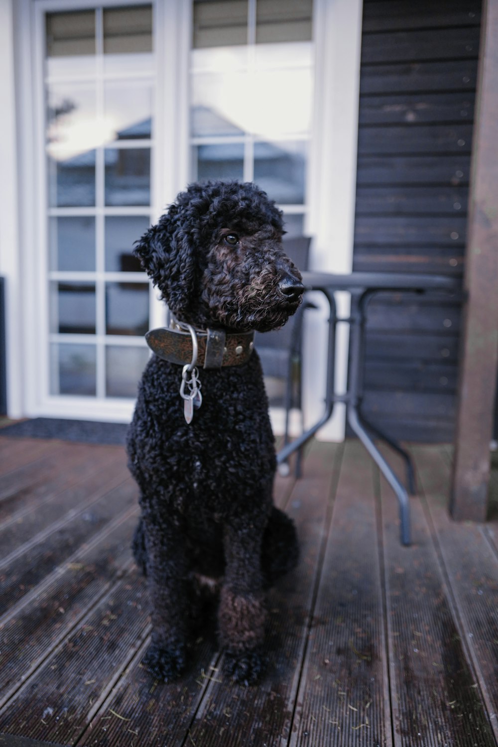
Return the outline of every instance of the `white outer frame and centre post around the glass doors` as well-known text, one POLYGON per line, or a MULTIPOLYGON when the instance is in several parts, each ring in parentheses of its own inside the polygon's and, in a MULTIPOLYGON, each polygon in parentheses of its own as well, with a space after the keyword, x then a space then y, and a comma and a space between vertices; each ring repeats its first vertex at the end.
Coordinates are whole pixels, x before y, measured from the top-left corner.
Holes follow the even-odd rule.
MULTIPOLYGON (((7 385, 11 417, 40 415, 66 418, 128 421, 130 400, 95 400, 90 397, 50 397, 43 391, 48 371, 48 339, 40 338, 40 304, 47 309, 46 255, 39 250, 46 236, 46 205, 40 199, 45 142, 43 127, 43 14, 51 10, 78 10, 136 4, 137 0, 6 0, 6 23, 1 24, 0 58, 7 75, 0 84, 2 117, 7 138, 7 179, 1 196, 0 272, 7 276, 7 385), (13 16, 14 43, 10 40, 13 16), (9 75, 10 71, 10 75, 9 75), (15 82, 14 82, 15 81, 15 82), (12 107, 15 95, 16 110, 12 107), (10 114, 9 114, 10 113, 10 114), (18 179, 18 190, 15 190, 18 179), (8 184, 8 193, 7 187, 8 184), (7 248, 8 247, 8 248, 7 248)), ((192 4, 185 0, 152 0, 155 13, 155 60, 158 69, 155 170, 152 220, 164 211, 188 180, 189 102, 188 75, 192 4), (174 113, 175 116, 171 116, 174 113)), ((352 269, 355 214, 358 91, 361 49, 362 0, 314 0, 315 90, 314 123, 307 176, 308 213, 305 232, 313 236, 311 267, 334 273, 352 269)), ((2 19, 3 16, 0 16, 2 19)), ((320 417, 325 387, 326 310, 308 313, 305 334, 305 412, 308 424, 320 417)), ((347 300, 341 301, 347 313, 347 300)), ((46 311, 44 312, 46 313, 46 311)), ((155 312, 154 312, 155 313, 155 312)), ((158 315, 161 314, 158 312, 158 315)), ((336 385, 344 388, 347 371, 347 334, 338 335, 336 385)), ((273 413, 281 430, 281 413, 273 413), (280 422, 279 422, 280 421, 280 422)), ((344 408, 320 432, 340 440, 344 408)))

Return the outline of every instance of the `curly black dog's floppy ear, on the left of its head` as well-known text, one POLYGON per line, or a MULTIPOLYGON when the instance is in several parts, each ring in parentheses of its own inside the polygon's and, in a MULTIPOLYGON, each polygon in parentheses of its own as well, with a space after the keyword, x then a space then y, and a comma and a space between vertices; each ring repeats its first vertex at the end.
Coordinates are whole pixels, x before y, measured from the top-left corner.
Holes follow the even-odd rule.
POLYGON ((187 319, 195 282, 194 245, 178 226, 175 205, 135 243, 134 255, 179 319, 187 319))

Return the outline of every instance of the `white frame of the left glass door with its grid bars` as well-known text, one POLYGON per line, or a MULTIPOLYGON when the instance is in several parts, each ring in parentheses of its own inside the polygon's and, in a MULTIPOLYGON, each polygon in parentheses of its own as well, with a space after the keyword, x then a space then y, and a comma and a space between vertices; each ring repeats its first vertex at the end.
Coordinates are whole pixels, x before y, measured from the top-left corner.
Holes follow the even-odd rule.
MULTIPOLYGON (((26 268, 25 278, 22 281, 26 289, 25 331, 22 335, 24 341, 23 358, 25 359, 25 371, 23 380, 22 414, 28 417, 40 415, 60 418, 83 418, 87 420, 103 420, 127 422, 131 418, 134 401, 128 398, 105 397, 103 394, 103 382, 97 382, 97 397, 78 397, 71 395, 49 394, 49 276, 47 274, 47 236, 49 212, 46 202, 46 164, 45 164, 45 120, 46 111, 44 104, 44 37, 45 37, 45 14, 57 10, 93 10, 95 7, 122 7, 124 5, 137 4, 137 0, 78 0, 68 7, 67 1, 63 0, 20 0, 18 6, 19 19, 22 21, 22 39, 19 40, 19 48, 24 54, 19 55, 20 75, 28 86, 30 96, 24 96, 22 101, 22 147, 21 168, 22 184, 26 186, 23 190, 25 196, 25 208, 29 214, 35 216, 33 223, 23 226, 21 232, 20 250, 22 264, 26 268), (31 28, 31 34, 26 33, 26 27, 31 28), (28 47, 29 37, 29 47, 28 47), (21 61, 22 60, 22 61, 21 61), (34 158, 29 158, 31 154, 34 158), (31 162, 31 167, 30 167, 31 162), (40 333, 40 328, 43 332, 40 333), (34 371, 37 375, 34 376, 34 371), (31 372, 31 373, 30 373, 31 372)), ((190 21, 185 23, 185 3, 163 3, 152 0, 154 23, 154 49, 155 49, 155 75, 163 84, 155 90, 156 117, 155 132, 164 133, 162 139, 153 135, 152 141, 132 143, 134 147, 140 144, 152 146, 155 149, 155 157, 152 158, 151 173, 151 206, 137 208, 113 209, 105 208, 105 214, 145 214, 150 215, 152 222, 164 212, 164 206, 174 199, 175 194, 184 184, 184 175, 187 171, 187 158, 182 159, 178 153, 178 129, 181 128, 182 117, 172 121, 167 117, 168 111, 177 111, 178 99, 183 100, 183 107, 187 102, 181 86, 181 76, 178 75, 178 49, 184 44, 178 38, 178 28, 187 29, 190 21), (160 41, 161 40, 161 41, 160 41), (158 43, 160 42, 160 43, 158 43), (177 55, 174 52, 177 52, 177 55), (172 54, 173 52, 173 54, 172 54), (174 146, 171 145, 174 143, 174 146), (169 149, 168 149, 169 144, 169 149)), ((185 34, 187 35, 187 34, 185 34)), ((186 68, 186 63, 184 63, 186 68)), ((126 75, 126 78, 130 77, 126 75)), ((115 79, 116 76, 113 76, 115 79)), ((125 145, 122 143, 121 145, 125 145)), ((109 147, 113 144, 110 143, 109 147)), ((50 214, 66 214, 66 209, 51 209, 50 214)), ((71 214, 85 214, 85 208, 71 208, 71 214)), ((102 208, 92 208, 91 214, 96 215, 96 220, 102 220, 102 208)), ((99 237, 99 232, 97 232, 99 237)), ((100 247, 102 249, 102 247, 100 247)), ((101 252, 102 253, 102 252, 101 252)), ((69 273, 71 274, 71 273, 69 273)), ((63 280, 69 278, 68 273, 51 272, 52 280, 63 280)), ((116 276, 117 277, 117 276, 116 276)), ((72 280, 75 278, 71 274, 72 280)), ((78 273, 78 281, 91 279, 111 281, 110 273, 78 273)), ((134 279, 143 280, 143 275, 126 273, 119 275, 119 280, 133 282, 134 279)), ((102 295, 102 294, 101 294, 102 295)), ((159 326, 164 323, 164 304, 159 303, 158 293, 152 294, 150 305, 151 326, 159 326)), ((102 305, 102 298, 100 299, 102 305)), ((102 309, 101 309, 102 311, 102 309)), ((102 314, 101 314, 102 316, 102 314)), ((102 332, 102 330, 101 330, 102 332)), ((98 338, 99 335, 96 335, 98 338)), ((64 335, 66 341, 83 341, 82 335, 69 338, 64 335)), ((112 344, 133 345, 137 341, 132 338, 105 335, 105 341, 112 344)), ((102 353, 101 353, 102 354, 102 353)), ((101 367, 102 370, 102 367, 101 367)))

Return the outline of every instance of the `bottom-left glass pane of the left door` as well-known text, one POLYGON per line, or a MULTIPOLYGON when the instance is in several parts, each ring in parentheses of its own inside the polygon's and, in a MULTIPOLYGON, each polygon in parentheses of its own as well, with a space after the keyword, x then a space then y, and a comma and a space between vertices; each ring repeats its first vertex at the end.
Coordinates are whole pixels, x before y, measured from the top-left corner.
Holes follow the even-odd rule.
POLYGON ((96 395, 96 346, 55 343, 51 346, 51 394, 96 395))

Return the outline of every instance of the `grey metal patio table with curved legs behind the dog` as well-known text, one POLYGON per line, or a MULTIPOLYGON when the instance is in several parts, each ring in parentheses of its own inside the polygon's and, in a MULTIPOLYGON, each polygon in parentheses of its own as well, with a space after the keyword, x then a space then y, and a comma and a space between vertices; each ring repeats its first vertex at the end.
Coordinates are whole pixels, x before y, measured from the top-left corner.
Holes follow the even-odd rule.
POLYGON ((287 462, 288 457, 294 451, 300 449, 314 433, 317 433, 324 424, 332 417, 334 404, 342 402, 346 404, 346 419, 352 431, 360 438, 379 465, 382 474, 396 493, 399 502, 399 519, 401 530, 401 542, 409 545, 410 533, 410 506, 408 491, 415 492, 414 469, 410 455, 396 442, 378 427, 373 426, 361 413, 361 399, 363 396, 363 373, 364 373, 364 347, 365 347, 365 322, 367 320, 367 309, 370 300, 375 294, 382 291, 408 291, 415 294, 443 294, 447 299, 452 295, 459 299, 463 298, 461 293, 461 281, 449 276, 411 274, 411 273, 361 273, 353 272, 349 275, 333 275, 329 273, 303 272, 302 282, 306 291, 320 291, 323 293, 330 307, 329 335, 327 350, 327 375, 326 375, 326 397, 325 412, 322 418, 311 428, 302 433, 290 444, 277 454, 277 462, 287 462), (348 291, 351 297, 351 308, 349 317, 337 317, 337 308, 334 294, 337 291, 348 291), (334 391, 335 371, 335 332, 339 322, 349 323, 349 371, 348 383, 345 394, 337 394, 334 391), (396 450, 405 461, 407 472, 408 491, 394 474, 392 468, 385 460, 382 453, 373 442, 373 436, 380 438, 396 450))

